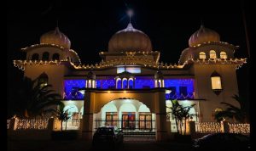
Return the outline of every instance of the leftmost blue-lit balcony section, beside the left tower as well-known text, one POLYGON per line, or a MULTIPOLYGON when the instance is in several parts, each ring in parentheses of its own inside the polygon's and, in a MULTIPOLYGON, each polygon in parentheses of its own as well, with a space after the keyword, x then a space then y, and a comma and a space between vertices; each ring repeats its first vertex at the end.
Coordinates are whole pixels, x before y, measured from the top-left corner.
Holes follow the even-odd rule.
POLYGON ((85 80, 65 80, 64 99, 83 100, 84 94, 79 92, 79 88, 85 87, 85 80))

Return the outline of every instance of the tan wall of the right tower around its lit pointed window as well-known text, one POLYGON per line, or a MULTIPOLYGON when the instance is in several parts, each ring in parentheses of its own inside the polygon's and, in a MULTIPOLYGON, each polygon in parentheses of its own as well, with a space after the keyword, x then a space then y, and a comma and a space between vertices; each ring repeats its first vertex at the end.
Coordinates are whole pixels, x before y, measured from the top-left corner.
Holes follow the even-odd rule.
POLYGON ((214 120, 212 117, 214 109, 225 107, 221 102, 238 105, 231 98, 238 94, 235 64, 194 64, 191 70, 195 74, 195 96, 206 99, 200 100, 199 103, 201 121, 214 120), (214 70, 221 76, 223 90, 219 95, 212 92, 211 75, 214 70))

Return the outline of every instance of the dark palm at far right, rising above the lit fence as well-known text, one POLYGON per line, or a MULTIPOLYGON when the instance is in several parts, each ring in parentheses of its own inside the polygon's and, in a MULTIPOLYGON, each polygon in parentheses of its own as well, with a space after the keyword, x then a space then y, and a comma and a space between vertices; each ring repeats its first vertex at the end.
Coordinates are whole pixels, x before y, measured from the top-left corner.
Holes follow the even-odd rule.
POLYGON ((222 104, 226 105, 227 108, 224 111, 218 111, 214 114, 214 118, 217 121, 224 120, 224 118, 229 119, 236 119, 237 121, 241 123, 247 123, 248 122, 248 108, 245 100, 238 95, 232 96, 240 105, 240 107, 236 107, 235 105, 231 103, 224 103, 222 104))

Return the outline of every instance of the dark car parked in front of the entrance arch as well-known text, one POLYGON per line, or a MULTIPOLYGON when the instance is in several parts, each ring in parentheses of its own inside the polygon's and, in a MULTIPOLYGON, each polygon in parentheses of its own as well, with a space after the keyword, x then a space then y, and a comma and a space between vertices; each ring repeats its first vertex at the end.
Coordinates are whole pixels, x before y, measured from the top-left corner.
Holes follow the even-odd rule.
POLYGON ((119 130, 116 126, 103 126, 97 128, 93 136, 92 145, 93 147, 100 147, 104 143, 105 147, 106 144, 114 147, 116 144, 123 143, 123 141, 124 134, 122 130, 119 130))

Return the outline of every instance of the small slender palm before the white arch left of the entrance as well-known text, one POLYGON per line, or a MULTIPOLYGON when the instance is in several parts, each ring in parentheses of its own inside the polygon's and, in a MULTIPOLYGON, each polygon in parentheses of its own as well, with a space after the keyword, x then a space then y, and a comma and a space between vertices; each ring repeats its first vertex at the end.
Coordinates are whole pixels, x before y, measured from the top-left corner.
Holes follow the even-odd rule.
POLYGON ((67 130, 67 120, 70 119, 72 115, 68 113, 68 109, 64 110, 64 103, 61 103, 59 105, 59 109, 56 110, 55 116, 58 118, 58 120, 61 120, 61 131, 63 131, 63 128, 62 128, 63 121, 66 122, 66 130, 67 130))

